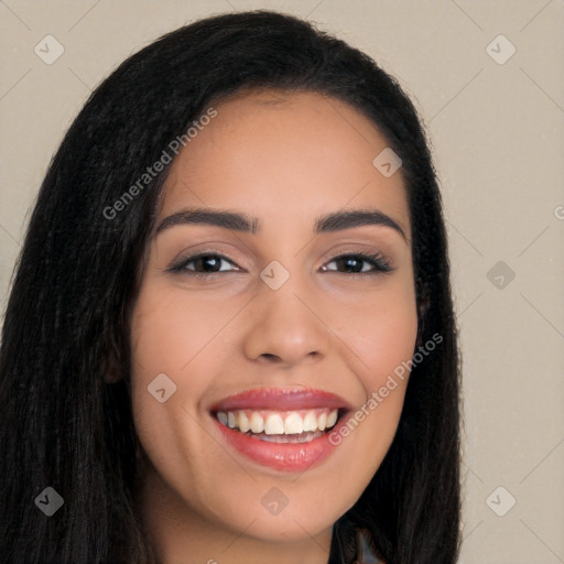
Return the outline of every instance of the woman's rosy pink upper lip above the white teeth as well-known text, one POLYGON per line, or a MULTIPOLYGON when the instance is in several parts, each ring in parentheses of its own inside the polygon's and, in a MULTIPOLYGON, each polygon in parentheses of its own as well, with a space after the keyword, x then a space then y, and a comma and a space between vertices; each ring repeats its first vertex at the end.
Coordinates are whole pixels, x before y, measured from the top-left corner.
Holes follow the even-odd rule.
POLYGON ((343 398, 313 388, 284 389, 284 388, 254 388, 235 395, 229 395, 213 405, 212 412, 236 410, 305 410, 334 408, 340 410, 351 409, 343 398))

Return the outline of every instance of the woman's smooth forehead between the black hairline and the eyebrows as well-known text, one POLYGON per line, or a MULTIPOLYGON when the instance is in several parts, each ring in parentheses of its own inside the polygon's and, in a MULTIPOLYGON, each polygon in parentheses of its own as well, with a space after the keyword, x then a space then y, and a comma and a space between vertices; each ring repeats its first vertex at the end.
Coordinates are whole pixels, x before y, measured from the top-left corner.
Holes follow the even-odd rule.
POLYGON ((274 90, 214 109, 171 165, 161 216, 209 206, 252 212, 264 224, 285 215, 288 225, 377 207, 411 237, 401 170, 386 177, 373 165, 388 142, 357 109, 317 93, 274 90))

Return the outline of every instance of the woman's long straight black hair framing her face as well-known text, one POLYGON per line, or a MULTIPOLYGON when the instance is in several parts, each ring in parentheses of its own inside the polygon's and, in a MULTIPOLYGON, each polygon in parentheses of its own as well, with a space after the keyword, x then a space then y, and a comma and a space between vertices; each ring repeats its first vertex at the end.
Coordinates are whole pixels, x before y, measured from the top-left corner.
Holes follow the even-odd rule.
POLYGON ((456 561, 459 351, 425 134, 402 88, 369 56, 296 18, 254 11, 197 21, 132 55, 93 93, 50 164, 2 328, 3 562, 158 561, 135 502, 129 319, 170 165, 126 209, 108 207, 212 104, 256 88, 338 98, 387 138, 409 200, 417 345, 442 337, 413 366, 393 443, 335 523, 329 563, 355 558, 360 530, 388 564, 456 561), (108 383, 109 372, 123 378, 108 383), (52 517, 34 502, 46 487, 64 500, 52 517))

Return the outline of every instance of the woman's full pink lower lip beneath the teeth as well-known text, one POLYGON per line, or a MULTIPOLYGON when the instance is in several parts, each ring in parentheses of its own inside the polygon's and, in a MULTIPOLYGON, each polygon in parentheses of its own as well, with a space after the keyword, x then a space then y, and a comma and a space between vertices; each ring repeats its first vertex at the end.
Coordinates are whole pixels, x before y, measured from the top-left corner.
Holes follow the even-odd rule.
POLYGON ((317 466, 329 456, 335 449, 335 445, 329 442, 329 433, 335 432, 344 421, 344 417, 340 417, 329 433, 324 433, 307 443, 271 443, 235 431, 216 417, 213 419, 227 443, 236 451, 262 466, 293 473, 317 466))

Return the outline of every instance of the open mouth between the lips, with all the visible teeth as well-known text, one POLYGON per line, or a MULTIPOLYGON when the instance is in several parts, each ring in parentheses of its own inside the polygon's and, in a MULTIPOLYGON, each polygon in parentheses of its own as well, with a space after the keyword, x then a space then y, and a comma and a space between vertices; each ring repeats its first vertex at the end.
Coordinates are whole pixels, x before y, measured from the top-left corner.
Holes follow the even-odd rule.
POLYGON ((221 425, 249 437, 270 443, 308 443, 328 433, 339 421, 343 410, 232 410, 215 411, 221 425))

